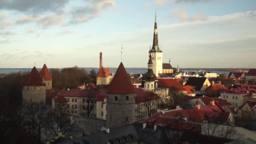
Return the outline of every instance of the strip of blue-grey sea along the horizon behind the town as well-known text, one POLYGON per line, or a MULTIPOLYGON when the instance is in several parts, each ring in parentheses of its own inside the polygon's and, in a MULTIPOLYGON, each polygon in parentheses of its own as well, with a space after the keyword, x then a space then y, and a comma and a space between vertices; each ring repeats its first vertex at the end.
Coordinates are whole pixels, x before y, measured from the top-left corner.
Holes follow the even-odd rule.
MULTIPOLYGON (((84 68, 86 71, 90 71, 93 68, 84 68)), ((39 71, 41 69, 38 69, 39 71)), ((51 69, 50 69, 51 70, 51 69)), ((98 69, 96 69, 96 72, 98 72, 98 69)), ((111 73, 116 72, 116 68, 110 68, 111 73)), ((235 71, 235 69, 180 69, 181 71, 188 71, 188 72, 195 72, 195 71, 205 71, 205 72, 213 72, 213 73, 225 73, 226 75, 229 74, 230 71, 235 71)), ((24 69, 0 69, 0 74, 10 74, 10 73, 16 73, 16 72, 30 72, 31 69, 29 68, 24 68, 24 69)), ((147 72, 147 69, 126 69, 127 73, 139 73, 139 74, 144 74, 147 72)))

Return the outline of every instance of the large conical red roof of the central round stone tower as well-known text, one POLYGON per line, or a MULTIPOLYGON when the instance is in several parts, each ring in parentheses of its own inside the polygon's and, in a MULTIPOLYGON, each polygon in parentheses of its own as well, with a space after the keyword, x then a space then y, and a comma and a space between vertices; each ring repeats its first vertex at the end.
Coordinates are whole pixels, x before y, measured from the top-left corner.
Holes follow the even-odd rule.
POLYGON ((128 76, 123 63, 119 65, 113 80, 111 81, 107 93, 128 94, 135 93, 130 77, 128 76))

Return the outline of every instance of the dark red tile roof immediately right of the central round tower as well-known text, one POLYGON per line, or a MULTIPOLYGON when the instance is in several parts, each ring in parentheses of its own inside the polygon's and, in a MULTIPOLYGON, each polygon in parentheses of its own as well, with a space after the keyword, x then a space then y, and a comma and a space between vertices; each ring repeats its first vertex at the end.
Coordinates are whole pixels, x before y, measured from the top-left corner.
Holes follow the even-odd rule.
POLYGON ((136 94, 136 97, 135 97, 136 104, 157 99, 157 94, 144 91, 142 88, 134 88, 134 91, 136 94))

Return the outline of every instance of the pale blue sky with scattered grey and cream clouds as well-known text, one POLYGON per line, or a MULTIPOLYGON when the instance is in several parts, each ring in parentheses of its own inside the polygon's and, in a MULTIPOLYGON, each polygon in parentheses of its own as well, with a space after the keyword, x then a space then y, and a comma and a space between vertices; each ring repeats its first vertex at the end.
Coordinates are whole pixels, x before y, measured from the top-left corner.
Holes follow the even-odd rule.
POLYGON ((256 68, 256 0, 0 0, 0 68, 256 68))

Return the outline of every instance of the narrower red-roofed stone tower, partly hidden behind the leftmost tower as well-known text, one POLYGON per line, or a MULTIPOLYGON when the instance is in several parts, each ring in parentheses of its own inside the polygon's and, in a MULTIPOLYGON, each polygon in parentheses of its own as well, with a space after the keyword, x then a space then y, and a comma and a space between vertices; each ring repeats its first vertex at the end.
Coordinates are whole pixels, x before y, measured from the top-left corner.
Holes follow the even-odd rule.
POLYGON ((40 75, 43 79, 43 83, 46 85, 46 90, 51 90, 53 78, 51 77, 51 73, 49 72, 46 64, 43 65, 43 68, 40 71, 40 75))

